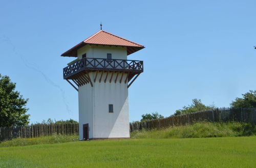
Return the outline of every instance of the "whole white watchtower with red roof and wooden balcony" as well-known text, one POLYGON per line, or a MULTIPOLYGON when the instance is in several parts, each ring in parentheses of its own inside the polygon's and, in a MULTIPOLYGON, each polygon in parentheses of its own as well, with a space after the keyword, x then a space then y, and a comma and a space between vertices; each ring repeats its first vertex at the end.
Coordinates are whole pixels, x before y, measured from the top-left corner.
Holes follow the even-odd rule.
POLYGON ((100 30, 61 54, 77 59, 63 78, 78 91, 79 139, 129 138, 128 88, 143 61, 127 55, 144 46, 100 30))

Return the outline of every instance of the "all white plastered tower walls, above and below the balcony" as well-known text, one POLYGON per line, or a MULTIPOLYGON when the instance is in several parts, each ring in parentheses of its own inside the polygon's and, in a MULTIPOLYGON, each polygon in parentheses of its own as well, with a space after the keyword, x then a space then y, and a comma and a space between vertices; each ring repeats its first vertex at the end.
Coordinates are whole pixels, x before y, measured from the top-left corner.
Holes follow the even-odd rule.
MULTIPOLYGON (((127 59, 126 47, 119 46, 86 45, 77 50, 79 59, 83 53, 87 53, 87 58, 106 59, 106 54, 111 53, 112 59, 127 59)), ((93 87, 90 84, 79 87, 79 139, 83 137, 82 125, 87 123, 89 138, 130 137, 126 74, 123 74, 123 77, 122 73, 117 72, 113 73, 113 76, 112 72, 109 73, 108 77, 106 74, 106 72, 103 73, 99 82, 100 72, 94 82, 96 72, 91 72, 89 75, 93 81, 93 87), (109 113, 109 104, 113 104, 114 113, 109 113)))

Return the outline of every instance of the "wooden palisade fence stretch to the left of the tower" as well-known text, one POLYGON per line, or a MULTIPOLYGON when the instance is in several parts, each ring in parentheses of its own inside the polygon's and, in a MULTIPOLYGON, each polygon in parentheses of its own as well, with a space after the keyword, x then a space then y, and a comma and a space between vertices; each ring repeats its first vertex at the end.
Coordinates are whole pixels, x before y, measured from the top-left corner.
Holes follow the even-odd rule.
POLYGON ((78 124, 31 124, 26 126, 0 127, 0 142, 13 138, 32 138, 54 134, 76 135, 78 124))

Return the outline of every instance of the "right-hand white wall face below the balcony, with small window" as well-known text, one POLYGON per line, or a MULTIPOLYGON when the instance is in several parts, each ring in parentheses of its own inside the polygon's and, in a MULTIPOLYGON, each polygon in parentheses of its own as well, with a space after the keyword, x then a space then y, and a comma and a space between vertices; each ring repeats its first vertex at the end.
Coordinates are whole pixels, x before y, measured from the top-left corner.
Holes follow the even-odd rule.
MULTIPOLYGON (((105 79, 106 73, 102 76, 105 79)), ((95 138, 101 137, 130 137, 129 127, 129 100, 127 83, 125 83, 126 74, 113 74, 112 82, 109 74, 104 81, 99 82, 99 78, 94 83, 94 101, 95 101, 95 138), (113 104, 114 113, 109 113, 109 104, 113 104)))

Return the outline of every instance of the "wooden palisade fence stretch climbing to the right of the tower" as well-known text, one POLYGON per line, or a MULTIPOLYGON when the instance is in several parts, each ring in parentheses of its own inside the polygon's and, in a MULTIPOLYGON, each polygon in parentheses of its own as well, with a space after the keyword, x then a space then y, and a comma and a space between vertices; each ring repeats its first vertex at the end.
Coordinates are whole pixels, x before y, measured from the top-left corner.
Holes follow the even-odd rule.
POLYGON ((195 122, 231 122, 256 124, 256 108, 216 108, 179 116, 170 116, 146 122, 130 123, 130 131, 160 129, 170 126, 189 125, 195 122))

